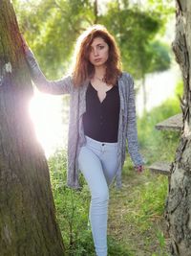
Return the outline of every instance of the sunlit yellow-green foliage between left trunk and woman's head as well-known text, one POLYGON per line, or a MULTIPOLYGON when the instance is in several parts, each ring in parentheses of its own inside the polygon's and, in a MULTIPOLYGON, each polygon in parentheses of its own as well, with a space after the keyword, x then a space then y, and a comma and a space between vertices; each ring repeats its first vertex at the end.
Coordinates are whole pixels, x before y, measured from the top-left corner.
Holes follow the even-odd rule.
POLYGON ((52 79, 66 73, 76 37, 94 19, 92 1, 14 1, 22 32, 52 79), (65 70, 63 72, 63 70, 65 70))

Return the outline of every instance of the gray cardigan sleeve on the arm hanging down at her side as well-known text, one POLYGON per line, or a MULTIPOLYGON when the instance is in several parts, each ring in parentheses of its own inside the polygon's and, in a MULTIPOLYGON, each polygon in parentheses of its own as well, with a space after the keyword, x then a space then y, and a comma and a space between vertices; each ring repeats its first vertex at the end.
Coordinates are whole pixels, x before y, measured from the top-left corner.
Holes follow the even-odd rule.
POLYGON ((129 75, 129 97, 128 97, 128 115, 127 115, 127 142, 128 151, 135 164, 140 166, 143 164, 142 157, 138 151, 138 128, 137 128, 137 116, 136 116, 136 103, 135 103, 135 91, 134 80, 129 75))

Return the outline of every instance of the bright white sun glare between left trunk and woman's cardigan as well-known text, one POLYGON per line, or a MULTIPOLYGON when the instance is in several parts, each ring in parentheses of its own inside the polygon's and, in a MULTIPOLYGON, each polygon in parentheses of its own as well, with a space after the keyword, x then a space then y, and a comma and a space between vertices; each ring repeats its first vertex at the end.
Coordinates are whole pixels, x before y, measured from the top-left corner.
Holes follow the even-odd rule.
POLYGON ((68 125, 62 122, 62 98, 34 91, 30 114, 37 139, 49 157, 56 149, 66 148, 68 125))

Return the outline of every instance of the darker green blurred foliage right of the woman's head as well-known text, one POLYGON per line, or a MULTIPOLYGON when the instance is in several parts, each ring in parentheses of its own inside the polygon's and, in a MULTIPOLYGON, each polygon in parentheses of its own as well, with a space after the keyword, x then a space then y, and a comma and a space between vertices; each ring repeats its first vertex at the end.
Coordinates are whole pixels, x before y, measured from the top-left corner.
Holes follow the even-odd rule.
POLYGON ((169 68, 168 49, 155 41, 155 36, 164 26, 161 14, 149 9, 142 11, 138 5, 130 8, 128 1, 121 2, 123 5, 118 1, 108 4, 108 12, 100 20, 117 37, 124 69, 142 79, 146 73, 169 68), (158 46, 158 52, 155 46, 158 46))

